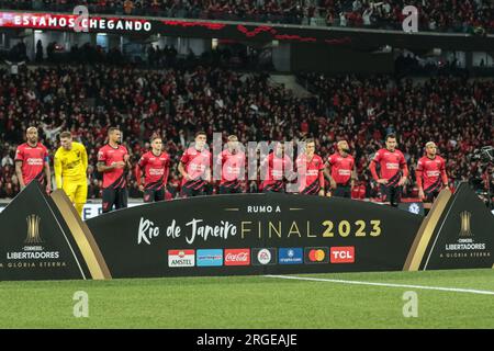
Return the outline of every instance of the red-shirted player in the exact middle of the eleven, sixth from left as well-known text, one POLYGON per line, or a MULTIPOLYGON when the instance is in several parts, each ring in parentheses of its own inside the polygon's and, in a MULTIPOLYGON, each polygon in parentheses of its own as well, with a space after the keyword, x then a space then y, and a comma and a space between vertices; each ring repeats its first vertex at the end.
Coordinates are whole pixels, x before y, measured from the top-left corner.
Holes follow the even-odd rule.
POLYGON ((216 166, 221 167, 220 194, 238 194, 243 192, 242 183, 245 176, 245 152, 240 150, 238 137, 228 136, 228 148, 223 150, 216 166))

